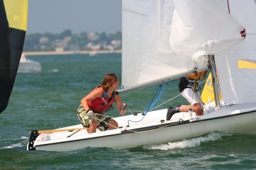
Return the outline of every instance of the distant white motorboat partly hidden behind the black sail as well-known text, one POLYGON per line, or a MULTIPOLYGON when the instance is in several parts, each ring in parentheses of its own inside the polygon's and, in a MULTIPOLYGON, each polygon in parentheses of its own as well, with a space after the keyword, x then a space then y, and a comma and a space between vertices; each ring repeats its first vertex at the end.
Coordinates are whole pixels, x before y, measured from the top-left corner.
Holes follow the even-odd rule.
POLYGON ((22 53, 18 73, 38 73, 41 71, 42 67, 39 62, 27 59, 24 53, 22 53))

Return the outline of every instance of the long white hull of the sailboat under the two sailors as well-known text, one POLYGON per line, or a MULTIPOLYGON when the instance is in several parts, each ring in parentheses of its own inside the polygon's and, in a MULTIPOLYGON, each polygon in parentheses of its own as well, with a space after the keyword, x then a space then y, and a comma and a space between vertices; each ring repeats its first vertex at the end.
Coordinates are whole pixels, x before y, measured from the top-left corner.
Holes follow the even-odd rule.
MULTIPOLYGON (((213 131, 230 133, 256 132, 256 103, 223 106, 201 117, 191 118, 190 113, 177 113, 172 120, 166 121, 167 110, 150 111, 145 118, 141 114, 117 117, 121 128, 88 134, 86 130, 40 134, 33 146, 36 150, 69 151, 85 147, 132 148, 141 145, 157 145, 194 138, 213 131), (127 127, 127 120, 130 122, 127 127), (161 120, 163 123, 161 123, 161 120), (76 132, 74 134, 74 132, 76 132), (72 136, 70 136, 73 134, 72 136), (68 137, 70 136, 70 137, 68 137)), ((74 125, 63 129, 81 128, 74 125)), ((33 148, 32 148, 33 149, 33 148)), ((29 146, 28 146, 28 150, 29 146)))

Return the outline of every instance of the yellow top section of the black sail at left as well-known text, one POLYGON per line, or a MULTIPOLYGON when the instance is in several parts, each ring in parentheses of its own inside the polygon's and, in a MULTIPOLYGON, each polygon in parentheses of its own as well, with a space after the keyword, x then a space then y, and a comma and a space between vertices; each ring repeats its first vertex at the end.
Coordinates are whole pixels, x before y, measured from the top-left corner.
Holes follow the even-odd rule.
POLYGON ((27 30, 28 0, 4 0, 9 27, 27 30))

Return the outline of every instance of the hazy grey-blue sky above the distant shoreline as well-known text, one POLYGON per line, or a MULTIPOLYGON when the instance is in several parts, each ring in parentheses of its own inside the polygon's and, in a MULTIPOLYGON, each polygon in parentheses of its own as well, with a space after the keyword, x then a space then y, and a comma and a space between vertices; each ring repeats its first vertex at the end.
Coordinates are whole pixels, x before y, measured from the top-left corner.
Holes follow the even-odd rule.
POLYGON ((27 34, 122 31, 122 0, 30 0, 27 34))

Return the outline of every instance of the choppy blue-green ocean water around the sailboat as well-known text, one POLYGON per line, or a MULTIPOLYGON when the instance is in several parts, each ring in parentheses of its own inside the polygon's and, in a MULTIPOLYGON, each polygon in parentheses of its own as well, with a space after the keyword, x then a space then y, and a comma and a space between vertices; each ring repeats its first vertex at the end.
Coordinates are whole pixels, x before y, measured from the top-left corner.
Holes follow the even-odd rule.
MULTIPOLYGON (((8 108, 0 114, 0 169, 256 169, 256 136, 249 134, 212 132, 174 143, 122 150, 27 151, 29 131, 79 124, 79 101, 101 83, 106 73, 116 73, 121 80, 120 54, 28 58, 40 62, 42 72, 17 74, 8 108)), ((177 84, 168 83, 157 104, 177 96, 177 84)), ((143 111, 156 89, 122 94, 122 101, 131 110, 143 111)), ((159 109, 177 104, 187 103, 179 96, 159 109)), ((119 113, 115 109, 109 115, 118 117, 119 113)))

